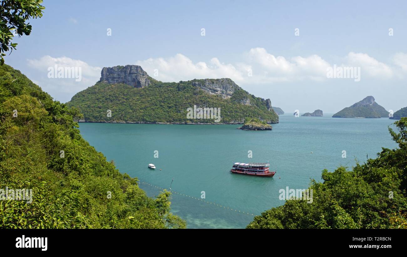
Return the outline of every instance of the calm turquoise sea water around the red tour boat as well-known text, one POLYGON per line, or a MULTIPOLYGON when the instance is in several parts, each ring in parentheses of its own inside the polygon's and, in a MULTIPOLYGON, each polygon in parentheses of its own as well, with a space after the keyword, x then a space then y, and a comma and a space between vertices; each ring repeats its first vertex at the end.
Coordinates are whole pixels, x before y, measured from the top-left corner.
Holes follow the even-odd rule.
POLYGON ((172 190, 180 194, 172 196, 172 212, 188 228, 244 228, 253 220, 251 214, 284 204, 278 198, 281 188, 307 188, 310 178, 321 180, 323 169, 352 167, 355 158, 363 163, 382 146, 396 147, 387 130, 392 120, 330 116, 280 115, 272 131, 241 131, 238 125, 107 123, 80 123, 80 130, 120 172, 144 182, 140 187, 149 196, 157 195, 158 187, 169 188, 173 180, 172 190), (277 170, 273 178, 229 172, 234 162, 267 161, 277 170), (147 168, 149 163, 157 169, 147 168), (202 191, 209 203, 200 200, 202 191))

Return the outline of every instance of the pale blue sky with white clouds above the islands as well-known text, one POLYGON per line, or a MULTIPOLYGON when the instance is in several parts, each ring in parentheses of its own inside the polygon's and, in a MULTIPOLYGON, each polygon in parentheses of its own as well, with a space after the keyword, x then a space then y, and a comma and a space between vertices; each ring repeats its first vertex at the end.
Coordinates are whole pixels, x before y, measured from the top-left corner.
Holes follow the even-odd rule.
POLYGON ((103 67, 136 64, 164 82, 231 78, 286 113, 336 113, 366 96, 387 110, 407 106, 406 1, 44 0, 43 6, 44 16, 30 20, 31 35, 15 37, 17 50, 5 61, 61 102, 94 85, 103 67), (80 67, 80 81, 49 78, 55 65, 80 67), (354 74, 341 78, 340 69, 354 74))

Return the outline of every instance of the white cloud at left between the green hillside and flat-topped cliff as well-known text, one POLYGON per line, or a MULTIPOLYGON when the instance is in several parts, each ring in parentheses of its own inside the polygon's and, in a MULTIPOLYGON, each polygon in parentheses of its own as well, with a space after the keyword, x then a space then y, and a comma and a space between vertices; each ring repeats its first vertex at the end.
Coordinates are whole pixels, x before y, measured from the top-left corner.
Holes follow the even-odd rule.
POLYGON ((100 78, 101 68, 93 67, 81 60, 69 57, 54 58, 49 55, 40 59, 28 59, 28 66, 39 71, 37 73, 37 85, 61 102, 67 102, 77 92, 94 85, 100 78), (81 81, 75 78, 48 78, 48 68, 57 67, 77 67, 81 68, 81 81))

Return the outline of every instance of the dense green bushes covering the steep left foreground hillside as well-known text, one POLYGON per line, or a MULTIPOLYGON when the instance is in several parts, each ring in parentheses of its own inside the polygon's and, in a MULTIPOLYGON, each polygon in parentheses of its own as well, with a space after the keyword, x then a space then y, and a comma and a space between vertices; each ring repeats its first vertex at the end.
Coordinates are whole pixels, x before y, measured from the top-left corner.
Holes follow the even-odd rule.
POLYGON ((184 228, 170 213, 171 193, 147 197, 81 137, 79 118, 0 67, 0 189, 33 190, 32 203, 0 200, 0 228, 184 228))

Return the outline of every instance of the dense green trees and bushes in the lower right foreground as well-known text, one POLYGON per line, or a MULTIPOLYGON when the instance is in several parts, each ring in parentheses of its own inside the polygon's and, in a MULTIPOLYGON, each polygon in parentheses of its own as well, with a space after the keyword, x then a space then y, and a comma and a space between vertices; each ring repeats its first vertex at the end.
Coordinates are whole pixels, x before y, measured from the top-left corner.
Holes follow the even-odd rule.
POLYGON ((376 159, 351 170, 323 170, 324 182, 311 181, 312 203, 287 200, 247 228, 407 229, 407 118, 395 124, 398 131, 389 132, 399 148, 382 148, 376 159))

